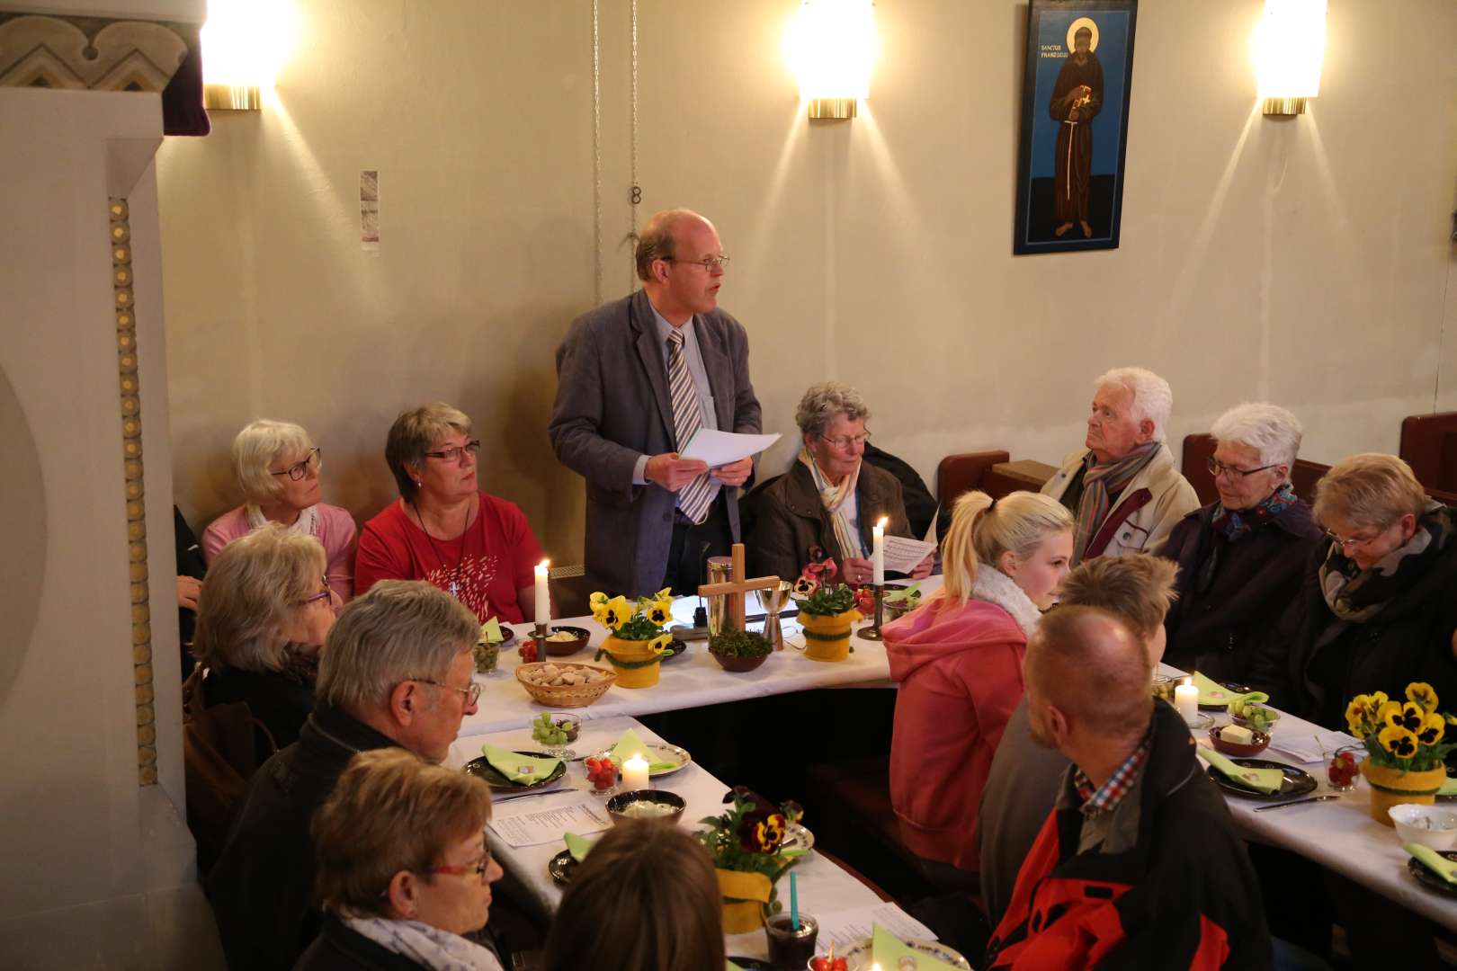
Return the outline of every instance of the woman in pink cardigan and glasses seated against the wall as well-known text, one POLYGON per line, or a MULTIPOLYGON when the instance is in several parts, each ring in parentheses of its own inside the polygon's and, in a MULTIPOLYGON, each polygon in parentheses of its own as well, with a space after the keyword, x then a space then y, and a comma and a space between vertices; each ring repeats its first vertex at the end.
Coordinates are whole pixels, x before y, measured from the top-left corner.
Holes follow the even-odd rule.
POLYGON ((233 476, 243 504, 213 520, 203 531, 203 556, 211 566, 219 552, 265 523, 312 536, 328 558, 329 588, 338 610, 354 595, 354 517, 321 502, 323 453, 300 425, 249 422, 233 438, 233 476))

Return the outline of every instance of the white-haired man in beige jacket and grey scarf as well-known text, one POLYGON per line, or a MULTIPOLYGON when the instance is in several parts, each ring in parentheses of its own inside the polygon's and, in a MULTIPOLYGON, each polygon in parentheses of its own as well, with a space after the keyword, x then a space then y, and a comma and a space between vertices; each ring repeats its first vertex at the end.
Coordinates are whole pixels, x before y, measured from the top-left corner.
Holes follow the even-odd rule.
POLYGON ((1173 403, 1169 381, 1141 367, 1113 368, 1093 383, 1085 447, 1042 486, 1077 518, 1074 563, 1157 553, 1174 524, 1199 508, 1164 444, 1173 403))

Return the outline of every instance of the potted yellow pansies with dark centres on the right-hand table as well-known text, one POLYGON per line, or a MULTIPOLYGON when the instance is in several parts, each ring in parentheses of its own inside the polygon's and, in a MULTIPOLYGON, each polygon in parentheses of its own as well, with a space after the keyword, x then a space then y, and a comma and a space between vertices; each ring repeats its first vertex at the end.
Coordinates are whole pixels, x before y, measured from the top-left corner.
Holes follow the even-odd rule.
POLYGON ((1457 718, 1437 710, 1437 691, 1425 681, 1406 686, 1406 700, 1386 691, 1356 694, 1346 706, 1346 726, 1361 740, 1367 758, 1361 774, 1371 786, 1371 818, 1391 825, 1387 809, 1402 802, 1431 805, 1447 779, 1447 726, 1457 718))

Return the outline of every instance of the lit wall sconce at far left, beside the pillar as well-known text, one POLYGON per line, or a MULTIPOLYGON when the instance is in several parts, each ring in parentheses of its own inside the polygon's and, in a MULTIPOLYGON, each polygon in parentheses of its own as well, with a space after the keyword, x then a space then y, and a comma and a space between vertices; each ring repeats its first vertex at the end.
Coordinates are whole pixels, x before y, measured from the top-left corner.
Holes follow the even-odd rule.
POLYGON ((203 25, 203 106, 258 111, 293 47, 288 0, 208 0, 203 25))

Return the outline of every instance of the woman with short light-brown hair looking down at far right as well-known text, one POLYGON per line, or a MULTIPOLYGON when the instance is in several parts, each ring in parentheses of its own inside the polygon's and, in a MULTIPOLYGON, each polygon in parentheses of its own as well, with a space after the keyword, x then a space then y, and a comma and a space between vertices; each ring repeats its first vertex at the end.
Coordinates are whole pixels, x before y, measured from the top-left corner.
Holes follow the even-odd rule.
POLYGON ((1332 466, 1313 512, 1326 534, 1250 684, 1338 729, 1356 694, 1402 700, 1409 683, 1426 681, 1457 697, 1457 512, 1380 453, 1332 466))

